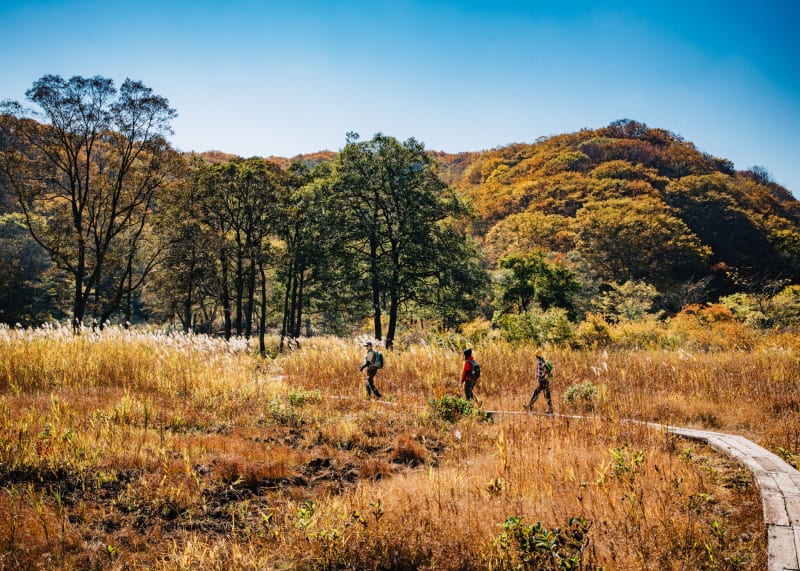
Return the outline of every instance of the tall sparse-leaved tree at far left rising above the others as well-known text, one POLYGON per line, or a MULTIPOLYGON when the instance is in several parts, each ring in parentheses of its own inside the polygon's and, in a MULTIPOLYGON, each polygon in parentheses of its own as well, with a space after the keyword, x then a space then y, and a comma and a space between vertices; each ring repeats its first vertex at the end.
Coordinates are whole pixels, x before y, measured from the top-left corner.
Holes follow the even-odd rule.
POLYGON ((46 75, 26 96, 38 110, 2 105, 0 169, 33 238, 72 276, 73 326, 90 306, 102 325, 157 259, 143 246, 171 178, 176 112, 130 79, 117 90, 100 76, 46 75))

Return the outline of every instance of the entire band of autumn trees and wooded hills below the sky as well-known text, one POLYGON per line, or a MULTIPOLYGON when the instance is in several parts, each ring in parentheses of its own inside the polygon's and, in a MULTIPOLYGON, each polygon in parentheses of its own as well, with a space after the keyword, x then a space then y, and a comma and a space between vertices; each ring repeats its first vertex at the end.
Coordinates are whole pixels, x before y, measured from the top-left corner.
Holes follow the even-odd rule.
POLYGON ((456 155, 378 133, 245 159, 175 152, 175 111, 139 82, 45 76, 27 95, 37 109, 0 110, 5 323, 169 323, 263 350, 267 330, 369 324, 391 345, 411 323, 519 331, 635 299, 670 315, 749 296, 775 325, 759 300, 797 297, 791 193, 636 121, 456 155))

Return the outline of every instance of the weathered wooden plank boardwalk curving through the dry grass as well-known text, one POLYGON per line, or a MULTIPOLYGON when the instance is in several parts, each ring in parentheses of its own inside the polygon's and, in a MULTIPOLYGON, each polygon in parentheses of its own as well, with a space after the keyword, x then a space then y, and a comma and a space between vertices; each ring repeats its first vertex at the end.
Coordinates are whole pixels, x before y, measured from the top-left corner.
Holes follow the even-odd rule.
MULTIPOLYGON (((492 418, 500 415, 530 414, 511 411, 486 412, 492 418)), ((767 524, 768 571, 800 571, 800 472, 788 462, 743 436, 680 426, 664 426, 653 422, 641 424, 703 442, 744 464, 752 472, 761 492, 764 522, 767 524)))

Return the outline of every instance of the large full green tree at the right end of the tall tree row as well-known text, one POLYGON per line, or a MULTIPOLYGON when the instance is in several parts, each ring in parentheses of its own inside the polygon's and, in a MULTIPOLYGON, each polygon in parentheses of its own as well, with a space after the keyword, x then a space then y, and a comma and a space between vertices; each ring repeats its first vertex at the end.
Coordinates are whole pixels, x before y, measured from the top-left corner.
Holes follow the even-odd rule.
MULTIPOLYGON (((335 165, 335 192, 345 217, 353 255, 361 262, 375 337, 383 337, 383 311, 388 313, 386 346, 391 347, 400 308, 408 302, 436 302, 430 284, 443 269, 457 273, 450 261, 454 241, 465 232, 448 221, 466 215, 464 205, 438 176, 436 164, 415 139, 399 142, 376 134, 360 141, 347 137, 335 165)), ((458 263, 473 263, 466 257, 458 263)))

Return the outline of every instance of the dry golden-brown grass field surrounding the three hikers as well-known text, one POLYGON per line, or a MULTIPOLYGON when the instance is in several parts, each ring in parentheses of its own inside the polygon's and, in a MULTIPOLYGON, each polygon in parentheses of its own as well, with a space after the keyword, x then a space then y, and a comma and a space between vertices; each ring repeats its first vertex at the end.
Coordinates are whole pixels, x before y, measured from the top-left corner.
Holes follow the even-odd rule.
POLYGON ((561 552, 579 569, 762 569, 752 477, 623 420, 793 459, 800 342, 751 337, 747 351, 547 349, 556 412, 583 419, 521 414, 535 347, 487 342, 476 393, 519 414, 486 423, 428 405, 460 394, 457 343, 388 353, 387 404, 365 398, 354 340, 263 360, 202 336, 0 329, 0 567, 558 569, 555 547, 519 538, 540 522, 564 539, 582 518, 588 544, 561 552), (578 385, 591 396, 568 400, 578 385))

